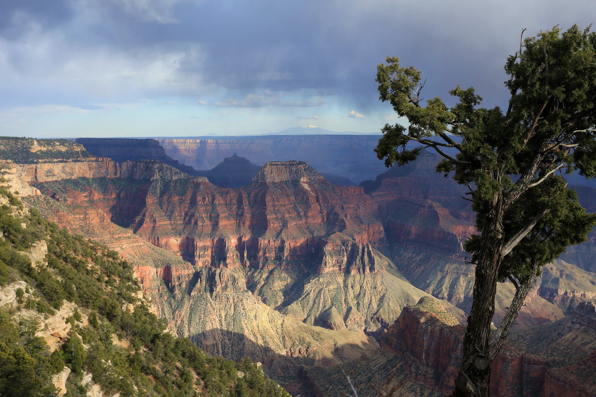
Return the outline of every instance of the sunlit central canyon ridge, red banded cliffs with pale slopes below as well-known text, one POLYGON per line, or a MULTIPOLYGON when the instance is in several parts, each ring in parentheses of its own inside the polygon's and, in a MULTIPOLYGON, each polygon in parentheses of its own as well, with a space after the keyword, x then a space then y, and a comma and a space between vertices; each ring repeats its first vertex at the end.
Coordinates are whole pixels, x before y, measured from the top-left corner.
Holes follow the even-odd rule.
POLYGON ((384 234, 368 215, 374 201, 304 162, 269 163, 238 190, 150 161, 36 186, 44 196, 30 202, 44 214, 121 245, 170 329, 273 373, 374 351, 363 330, 386 328, 427 296, 375 249, 384 234))

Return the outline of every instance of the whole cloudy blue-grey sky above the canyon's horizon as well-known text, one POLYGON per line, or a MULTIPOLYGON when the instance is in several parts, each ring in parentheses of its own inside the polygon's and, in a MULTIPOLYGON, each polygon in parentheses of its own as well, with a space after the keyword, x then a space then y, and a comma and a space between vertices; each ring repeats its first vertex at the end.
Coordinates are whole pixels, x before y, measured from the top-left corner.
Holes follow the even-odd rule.
POLYGON ((507 107, 526 36, 596 20, 594 0, 1 0, 0 135, 378 132, 387 56, 423 96, 474 86, 507 107))

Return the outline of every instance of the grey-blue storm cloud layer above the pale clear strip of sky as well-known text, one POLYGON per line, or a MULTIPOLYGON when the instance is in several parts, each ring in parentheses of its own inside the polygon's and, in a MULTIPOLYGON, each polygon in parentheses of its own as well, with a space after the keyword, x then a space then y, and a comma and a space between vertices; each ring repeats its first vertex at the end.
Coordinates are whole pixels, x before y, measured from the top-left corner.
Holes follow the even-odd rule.
POLYGON ((375 68, 387 55, 423 71, 427 98, 461 83, 502 105, 502 65, 522 27, 584 27, 595 11, 584 0, 10 0, 0 51, 22 80, 6 85, 20 105, 52 92, 64 103, 194 96, 242 107, 291 92, 295 104, 335 96, 364 111, 378 106, 375 68))

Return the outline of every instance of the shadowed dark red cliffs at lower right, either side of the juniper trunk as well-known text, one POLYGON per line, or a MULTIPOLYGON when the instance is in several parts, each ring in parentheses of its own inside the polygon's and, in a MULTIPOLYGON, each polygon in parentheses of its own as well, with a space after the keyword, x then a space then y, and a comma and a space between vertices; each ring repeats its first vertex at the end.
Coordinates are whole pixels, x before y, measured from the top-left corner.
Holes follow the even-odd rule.
MULTIPOLYGON (((464 327, 457 324, 432 298, 422 298, 404 308, 381 347, 403 360, 411 382, 450 394, 462 357, 464 327)), ((505 343, 492 363, 491 395, 596 395, 596 308, 591 302, 555 323, 513 332, 510 339, 514 342, 505 343)))

